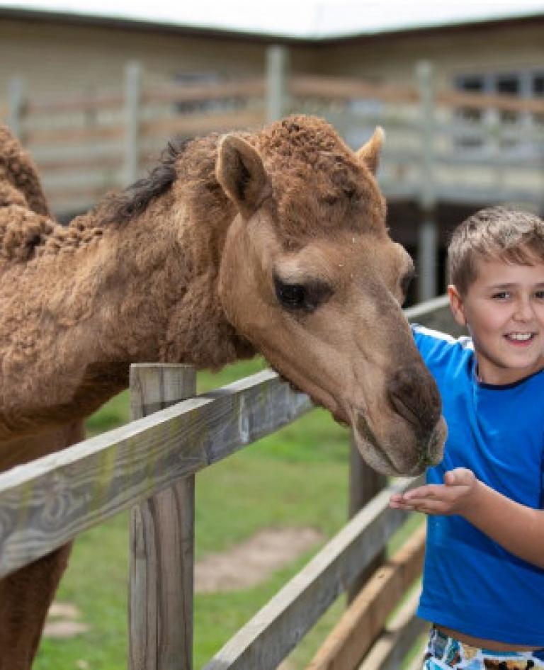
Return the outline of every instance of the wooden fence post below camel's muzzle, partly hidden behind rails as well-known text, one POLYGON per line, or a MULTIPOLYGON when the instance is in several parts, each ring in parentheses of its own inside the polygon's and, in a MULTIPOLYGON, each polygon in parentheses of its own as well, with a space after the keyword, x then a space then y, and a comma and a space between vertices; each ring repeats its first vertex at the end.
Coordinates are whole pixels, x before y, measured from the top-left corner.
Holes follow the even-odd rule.
MULTIPOLYGON (((349 518, 353 518, 386 485, 387 477, 379 475, 369 465, 366 465, 352 436, 349 454, 349 518)), ((384 560, 385 552, 381 552, 351 584, 348 590, 348 604, 356 598, 370 575, 378 569, 384 560)))

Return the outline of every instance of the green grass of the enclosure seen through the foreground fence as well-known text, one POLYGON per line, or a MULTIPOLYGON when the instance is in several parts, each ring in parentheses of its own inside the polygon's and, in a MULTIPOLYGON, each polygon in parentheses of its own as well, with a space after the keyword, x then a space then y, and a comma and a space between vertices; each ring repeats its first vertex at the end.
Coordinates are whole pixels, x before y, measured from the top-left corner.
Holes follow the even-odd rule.
MULTIPOLYGON (((225 385, 263 368, 256 359, 217 375, 198 375, 198 391, 225 385)), ((128 394, 89 419, 89 434, 128 420, 128 394)), ((196 557, 223 550, 270 527, 312 526, 326 538, 346 522, 348 431, 314 410, 282 431, 208 467, 196 478, 196 557)), ((316 547, 314 551, 319 549, 316 547)), ((195 601, 195 668, 217 652, 251 615, 307 562, 251 589, 198 594, 195 601)), ((69 640, 43 640, 34 670, 121 670, 127 659, 128 513, 120 513, 77 538, 58 601, 74 603, 89 632, 69 640)), ((295 649, 302 668, 334 625, 344 598, 295 649)))

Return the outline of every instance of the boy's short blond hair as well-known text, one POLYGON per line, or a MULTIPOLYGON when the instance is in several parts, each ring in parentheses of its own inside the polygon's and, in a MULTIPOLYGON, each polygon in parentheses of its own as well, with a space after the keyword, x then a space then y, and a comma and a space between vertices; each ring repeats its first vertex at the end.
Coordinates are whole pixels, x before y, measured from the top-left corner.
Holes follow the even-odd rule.
POLYGON ((455 229, 448 247, 450 282, 462 295, 477 277, 479 260, 544 263, 544 221, 505 207, 476 212, 455 229))

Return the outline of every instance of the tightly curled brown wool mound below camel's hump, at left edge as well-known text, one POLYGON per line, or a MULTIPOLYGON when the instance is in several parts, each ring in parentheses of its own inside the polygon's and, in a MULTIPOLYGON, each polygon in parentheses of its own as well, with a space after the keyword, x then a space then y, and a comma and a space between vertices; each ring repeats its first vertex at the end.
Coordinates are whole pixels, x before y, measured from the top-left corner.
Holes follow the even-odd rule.
POLYGON ((52 221, 23 205, 0 208, 0 259, 29 261, 54 229, 52 221))

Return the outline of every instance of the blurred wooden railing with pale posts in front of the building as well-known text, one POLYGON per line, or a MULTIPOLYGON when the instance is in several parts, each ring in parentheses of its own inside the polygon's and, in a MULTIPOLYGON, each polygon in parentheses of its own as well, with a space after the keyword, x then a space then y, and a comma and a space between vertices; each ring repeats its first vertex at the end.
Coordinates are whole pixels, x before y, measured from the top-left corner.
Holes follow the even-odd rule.
POLYGON ((424 210, 437 202, 544 205, 544 100, 437 89, 419 64, 402 86, 290 74, 270 47, 261 77, 156 84, 128 64, 118 90, 35 98, 13 80, 0 118, 35 156, 57 214, 132 183, 174 135, 255 127, 291 112, 331 120, 353 147, 387 132, 380 186, 424 210), (469 113, 470 112, 470 113, 469 113))

